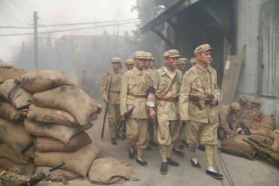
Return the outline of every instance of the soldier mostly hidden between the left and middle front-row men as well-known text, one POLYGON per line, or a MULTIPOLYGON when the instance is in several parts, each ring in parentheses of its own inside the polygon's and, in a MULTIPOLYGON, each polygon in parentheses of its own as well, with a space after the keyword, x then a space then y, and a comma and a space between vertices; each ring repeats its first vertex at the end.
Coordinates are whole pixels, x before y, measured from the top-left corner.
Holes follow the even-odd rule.
MULTIPOLYGON (((146 70, 148 72, 150 72, 152 81, 154 81, 154 76, 155 76, 155 71, 153 69, 154 57, 149 52, 146 52, 145 56, 146 56, 146 70), (152 68, 150 68, 150 66, 152 66, 152 68)), ((147 110, 147 113, 149 113, 149 110, 147 110)), ((150 119, 150 117, 148 117, 148 134, 149 134, 149 139, 150 139, 149 144, 151 144, 154 147, 158 147, 159 145, 154 141, 154 124, 155 124, 154 119, 152 120, 152 119, 150 119)), ((152 148, 149 145, 147 145, 146 150, 152 151, 152 148)))

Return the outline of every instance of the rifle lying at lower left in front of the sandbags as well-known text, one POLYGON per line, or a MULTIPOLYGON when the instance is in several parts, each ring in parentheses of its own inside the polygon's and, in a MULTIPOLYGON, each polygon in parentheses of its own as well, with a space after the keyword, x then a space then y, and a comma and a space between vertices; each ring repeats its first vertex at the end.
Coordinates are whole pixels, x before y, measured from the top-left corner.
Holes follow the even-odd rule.
POLYGON ((38 175, 33 175, 32 177, 26 179, 25 181, 18 183, 17 186, 30 186, 30 185, 36 184, 36 183, 40 182, 41 180, 47 178, 50 175, 51 171, 58 169, 62 165, 65 165, 65 162, 62 162, 61 164, 49 169, 48 171, 46 171, 44 173, 40 173, 38 175))

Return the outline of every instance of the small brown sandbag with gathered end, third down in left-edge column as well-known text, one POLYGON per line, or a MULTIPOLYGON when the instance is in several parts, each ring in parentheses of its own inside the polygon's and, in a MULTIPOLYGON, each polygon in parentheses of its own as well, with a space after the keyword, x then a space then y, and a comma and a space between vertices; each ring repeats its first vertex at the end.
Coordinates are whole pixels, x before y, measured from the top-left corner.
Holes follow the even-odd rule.
POLYGON ((26 115, 26 110, 20 111, 8 101, 0 101, 0 117, 6 118, 11 122, 20 123, 23 122, 26 115))

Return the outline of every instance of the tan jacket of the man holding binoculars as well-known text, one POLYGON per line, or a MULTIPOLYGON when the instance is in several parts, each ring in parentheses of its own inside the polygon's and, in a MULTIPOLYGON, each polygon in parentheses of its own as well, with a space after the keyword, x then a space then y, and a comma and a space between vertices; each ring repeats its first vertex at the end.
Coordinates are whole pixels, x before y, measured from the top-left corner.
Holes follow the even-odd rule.
POLYGON ((181 120, 192 120, 201 123, 218 122, 218 109, 217 106, 205 105, 204 101, 200 101, 202 109, 200 110, 193 101, 190 100, 190 95, 196 95, 200 98, 205 98, 198 73, 200 74, 201 81, 204 85, 206 94, 212 93, 220 100, 220 89, 217 85, 217 73, 211 66, 206 69, 201 68, 198 64, 190 68, 183 75, 182 85, 179 95, 179 114, 181 120), (211 73, 211 80, 210 80, 211 73), (212 86, 212 90, 211 90, 212 86))

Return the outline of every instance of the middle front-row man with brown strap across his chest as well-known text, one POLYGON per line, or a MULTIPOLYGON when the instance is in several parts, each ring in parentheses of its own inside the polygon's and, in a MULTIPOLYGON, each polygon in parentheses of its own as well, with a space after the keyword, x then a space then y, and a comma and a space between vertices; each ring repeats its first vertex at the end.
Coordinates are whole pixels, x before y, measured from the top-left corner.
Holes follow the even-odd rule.
POLYGON ((182 72, 178 67, 179 51, 168 50, 163 54, 165 65, 156 72, 154 87, 156 108, 150 106, 150 118, 157 114, 158 142, 162 164, 160 172, 167 173, 167 165, 178 167, 179 163, 170 158, 173 145, 179 139, 180 119, 178 113, 178 96, 182 80, 182 72))

